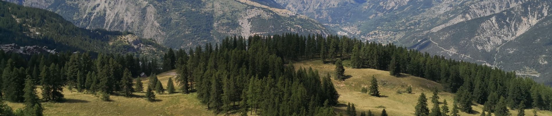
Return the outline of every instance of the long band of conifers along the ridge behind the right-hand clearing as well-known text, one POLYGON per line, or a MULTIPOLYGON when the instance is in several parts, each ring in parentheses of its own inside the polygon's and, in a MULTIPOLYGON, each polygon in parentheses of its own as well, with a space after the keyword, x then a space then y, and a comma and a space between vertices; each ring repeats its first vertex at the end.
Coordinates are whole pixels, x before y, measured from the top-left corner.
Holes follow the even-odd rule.
POLYGON ((552 110, 550 87, 486 65, 431 56, 392 43, 362 42, 344 36, 284 34, 250 38, 264 38, 269 46, 267 51, 285 60, 320 58, 331 63, 349 60, 352 68, 389 70, 395 76, 403 73, 439 82, 445 91, 457 93, 455 100, 459 110, 464 112, 471 111, 473 102, 495 109, 501 97, 505 98, 507 107, 518 108, 524 101, 524 108, 552 110))

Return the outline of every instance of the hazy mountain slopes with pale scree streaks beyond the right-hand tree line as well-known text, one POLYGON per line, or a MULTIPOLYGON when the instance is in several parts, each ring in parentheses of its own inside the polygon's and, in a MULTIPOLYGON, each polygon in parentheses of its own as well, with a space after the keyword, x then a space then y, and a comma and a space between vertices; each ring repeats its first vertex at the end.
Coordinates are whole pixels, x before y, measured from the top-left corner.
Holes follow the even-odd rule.
POLYGON ((275 0, 340 35, 394 42, 424 52, 552 80, 552 1, 275 0))

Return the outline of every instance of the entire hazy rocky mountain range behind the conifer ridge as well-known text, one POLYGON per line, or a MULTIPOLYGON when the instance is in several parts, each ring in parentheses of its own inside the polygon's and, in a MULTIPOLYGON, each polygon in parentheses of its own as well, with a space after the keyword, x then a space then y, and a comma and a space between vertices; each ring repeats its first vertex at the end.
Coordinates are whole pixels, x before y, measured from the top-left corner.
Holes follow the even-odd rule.
POLYGON ((7 0, 87 29, 131 31, 172 48, 226 36, 338 34, 395 43, 550 83, 552 1, 7 0))

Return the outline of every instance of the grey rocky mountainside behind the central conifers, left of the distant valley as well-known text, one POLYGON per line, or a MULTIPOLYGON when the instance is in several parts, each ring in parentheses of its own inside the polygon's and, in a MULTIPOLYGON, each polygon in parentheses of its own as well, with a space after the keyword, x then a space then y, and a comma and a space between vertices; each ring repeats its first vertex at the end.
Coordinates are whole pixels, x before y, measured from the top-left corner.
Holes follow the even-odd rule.
POLYGON ((135 32, 173 48, 233 35, 330 33, 316 20, 278 9, 272 0, 4 1, 51 10, 87 29, 135 32))

